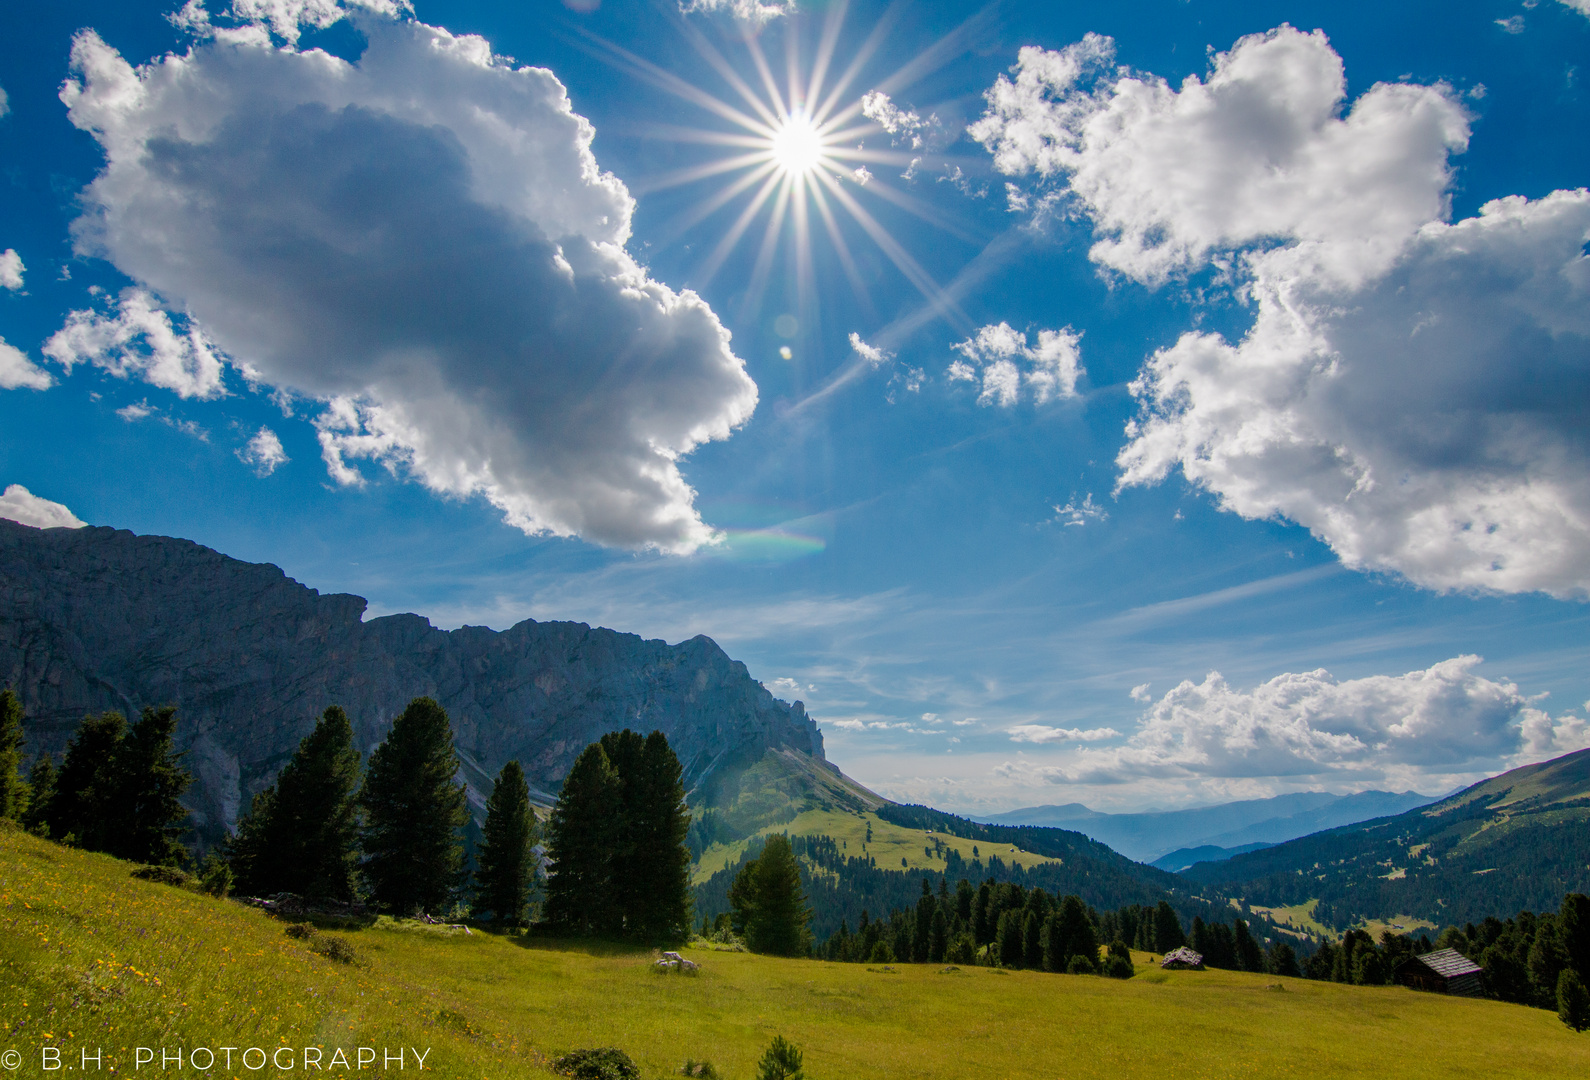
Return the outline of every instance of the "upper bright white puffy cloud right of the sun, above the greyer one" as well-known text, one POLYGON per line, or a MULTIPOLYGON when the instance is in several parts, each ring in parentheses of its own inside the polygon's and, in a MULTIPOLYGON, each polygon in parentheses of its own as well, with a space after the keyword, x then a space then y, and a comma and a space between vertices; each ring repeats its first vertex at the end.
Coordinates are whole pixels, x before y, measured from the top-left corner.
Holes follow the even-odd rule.
POLYGON ((1110 269, 1161 282, 1216 250, 1296 237, 1356 277, 1447 207, 1447 154, 1469 127, 1445 86, 1382 83, 1345 108, 1324 33, 1288 25, 1242 38, 1180 89, 1116 76, 1113 49, 1099 35, 1021 49, 1016 80, 1000 76, 971 127, 1002 172, 1067 181, 1110 269))

